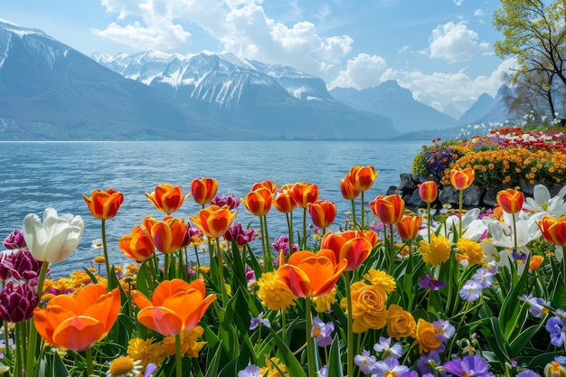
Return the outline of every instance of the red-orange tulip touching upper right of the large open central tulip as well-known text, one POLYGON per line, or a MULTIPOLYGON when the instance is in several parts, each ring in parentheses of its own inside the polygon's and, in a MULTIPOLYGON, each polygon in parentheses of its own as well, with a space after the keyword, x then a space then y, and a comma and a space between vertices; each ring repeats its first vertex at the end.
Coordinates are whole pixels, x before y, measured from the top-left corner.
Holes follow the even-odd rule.
POLYGON ((328 231, 320 241, 320 248, 333 250, 335 259, 347 260, 345 270, 354 271, 369 257, 376 243, 377 233, 374 231, 328 231))

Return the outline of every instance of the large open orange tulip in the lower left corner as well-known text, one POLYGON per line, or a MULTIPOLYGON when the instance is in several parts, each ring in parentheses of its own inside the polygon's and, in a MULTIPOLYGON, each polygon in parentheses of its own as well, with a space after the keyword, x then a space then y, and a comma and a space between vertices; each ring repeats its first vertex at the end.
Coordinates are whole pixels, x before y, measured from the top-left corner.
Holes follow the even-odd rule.
POLYGON ((102 340, 120 312, 118 288, 108 292, 99 284, 80 289, 75 297, 53 297, 45 308, 33 310, 37 332, 49 344, 82 352, 102 340))

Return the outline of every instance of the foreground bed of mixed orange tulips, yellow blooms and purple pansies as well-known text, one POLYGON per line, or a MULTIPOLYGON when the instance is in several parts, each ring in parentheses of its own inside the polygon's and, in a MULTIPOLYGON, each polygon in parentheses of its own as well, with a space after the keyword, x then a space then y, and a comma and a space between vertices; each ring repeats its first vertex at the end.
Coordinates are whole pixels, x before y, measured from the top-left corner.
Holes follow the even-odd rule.
MULTIPOLYGON (((460 193, 481 174, 461 167, 443 171, 460 193)), ((495 211, 464 211, 460 201, 433 215, 439 190, 429 182, 418 216, 399 195, 366 201, 375 179, 373 166, 354 166, 336 183, 352 204, 344 224, 316 184, 266 181, 241 200, 218 195, 212 178, 193 180, 192 198, 158 185, 148 212, 153 204, 164 217, 139 219, 117 245, 105 223, 119 221, 127 198, 94 190, 83 199, 88 221, 101 223, 100 268, 57 280, 49 266, 73 252, 87 220, 53 209, 26 216, 0 262, 3 372, 564 375, 566 188, 551 198, 537 185, 527 199, 509 189, 495 211), (202 210, 175 217, 186 200, 202 210), (237 222, 238 211, 257 217, 258 231, 237 222), (287 218, 287 234, 269 234, 268 212, 287 218), (112 266, 109 248, 132 264, 112 266), (210 266, 200 265, 202 249, 210 266)))

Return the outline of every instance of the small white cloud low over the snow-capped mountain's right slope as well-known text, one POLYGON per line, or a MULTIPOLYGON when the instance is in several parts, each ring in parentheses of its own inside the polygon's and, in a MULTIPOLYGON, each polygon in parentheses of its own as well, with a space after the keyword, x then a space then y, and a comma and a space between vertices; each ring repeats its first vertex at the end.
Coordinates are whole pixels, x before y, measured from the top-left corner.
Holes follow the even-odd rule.
POLYGON ((355 88, 357 90, 374 87, 382 82, 382 75, 387 68, 385 60, 377 55, 360 53, 348 59, 346 69, 340 71, 329 88, 355 88))

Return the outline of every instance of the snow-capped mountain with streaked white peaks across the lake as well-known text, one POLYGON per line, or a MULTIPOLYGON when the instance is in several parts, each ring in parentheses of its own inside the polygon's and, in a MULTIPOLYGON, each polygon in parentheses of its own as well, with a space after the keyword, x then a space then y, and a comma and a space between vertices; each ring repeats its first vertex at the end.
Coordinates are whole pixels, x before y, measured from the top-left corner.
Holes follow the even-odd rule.
POLYGON ((391 119, 336 101, 319 78, 231 54, 95 54, 124 77, 161 90, 215 121, 282 137, 387 138, 391 119))

